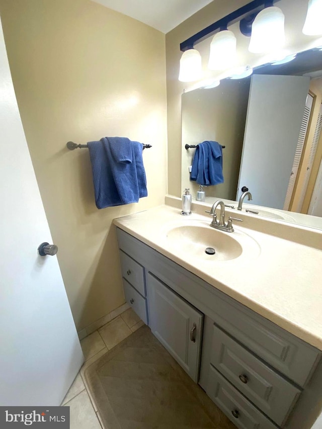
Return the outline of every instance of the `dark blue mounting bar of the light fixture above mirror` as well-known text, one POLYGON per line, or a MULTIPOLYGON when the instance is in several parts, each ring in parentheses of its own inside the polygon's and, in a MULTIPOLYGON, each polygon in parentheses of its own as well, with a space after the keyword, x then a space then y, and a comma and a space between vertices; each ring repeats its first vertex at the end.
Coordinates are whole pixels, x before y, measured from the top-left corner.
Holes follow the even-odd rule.
MULTIPOLYGON (((279 2, 279 0, 275 0, 275 2, 279 2)), ((254 0, 251 3, 248 3, 180 43, 180 50, 184 52, 188 49, 193 49, 195 43, 199 43, 210 37, 217 30, 226 30, 229 24, 234 24, 237 21, 240 21, 240 31, 243 34, 250 36, 251 26, 256 15, 263 9, 263 6, 265 8, 273 6, 273 3, 274 0, 254 0)))

